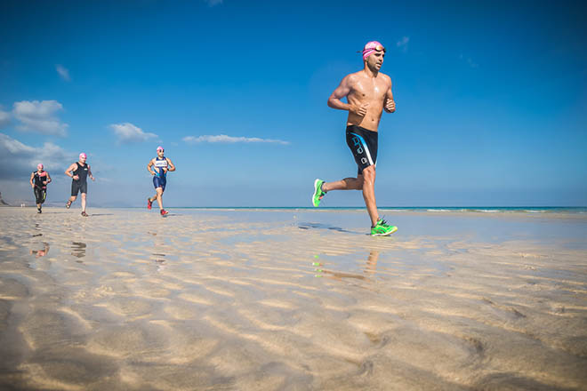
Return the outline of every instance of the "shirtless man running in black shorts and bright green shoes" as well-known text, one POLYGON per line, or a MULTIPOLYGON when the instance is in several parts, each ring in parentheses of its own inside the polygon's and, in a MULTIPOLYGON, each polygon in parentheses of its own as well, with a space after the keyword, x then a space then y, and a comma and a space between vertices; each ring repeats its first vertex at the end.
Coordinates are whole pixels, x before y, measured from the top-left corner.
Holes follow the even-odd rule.
POLYGON ((318 206, 322 197, 331 190, 363 190, 366 209, 371 218, 371 235, 393 234, 398 227, 390 226, 379 217, 375 203, 375 164, 377 163, 377 138, 382 111, 396 111, 391 92, 390 76, 379 72, 382 68, 385 48, 371 41, 363 48, 364 68, 345 76, 328 99, 328 106, 349 112, 347 119, 347 145, 358 165, 357 178, 345 178, 335 182, 314 181, 312 203, 318 206), (346 97, 348 103, 342 98, 346 97))

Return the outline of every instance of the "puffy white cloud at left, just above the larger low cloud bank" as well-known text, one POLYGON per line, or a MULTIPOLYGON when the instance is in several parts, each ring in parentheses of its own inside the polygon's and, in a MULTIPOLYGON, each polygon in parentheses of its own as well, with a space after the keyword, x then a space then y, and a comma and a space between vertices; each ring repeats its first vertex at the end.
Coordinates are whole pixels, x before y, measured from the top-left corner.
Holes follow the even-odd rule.
POLYGON ((68 124, 63 124, 55 116, 63 106, 57 100, 22 100, 14 102, 12 114, 20 121, 17 129, 22 132, 38 132, 43 134, 54 134, 64 137, 68 124))

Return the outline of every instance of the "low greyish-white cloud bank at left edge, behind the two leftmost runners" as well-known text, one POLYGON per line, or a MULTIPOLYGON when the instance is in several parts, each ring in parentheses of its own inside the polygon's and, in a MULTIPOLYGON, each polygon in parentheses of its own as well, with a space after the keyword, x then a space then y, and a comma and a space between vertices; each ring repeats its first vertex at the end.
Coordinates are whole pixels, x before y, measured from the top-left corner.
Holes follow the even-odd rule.
POLYGON ((0 180, 19 178, 28 180, 28 175, 39 163, 44 164, 49 172, 65 171, 74 161, 76 161, 75 153, 68 152, 51 142, 45 142, 43 147, 31 147, 0 133, 0 166, 11 168, 0 170, 0 180))

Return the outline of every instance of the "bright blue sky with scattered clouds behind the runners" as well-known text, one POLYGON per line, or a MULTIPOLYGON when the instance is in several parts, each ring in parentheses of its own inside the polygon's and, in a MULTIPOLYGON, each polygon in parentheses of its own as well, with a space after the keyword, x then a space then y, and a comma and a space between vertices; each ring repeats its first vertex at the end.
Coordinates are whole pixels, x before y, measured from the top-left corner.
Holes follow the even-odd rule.
POLYGON ((162 145, 165 205, 310 206, 356 173, 326 100, 376 39, 380 206, 587 205, 585 6, 513 3, 4 1, 0 192, 32 200, 43 162, 65 202, 84 151, 90 206, 142 205, 162 145))

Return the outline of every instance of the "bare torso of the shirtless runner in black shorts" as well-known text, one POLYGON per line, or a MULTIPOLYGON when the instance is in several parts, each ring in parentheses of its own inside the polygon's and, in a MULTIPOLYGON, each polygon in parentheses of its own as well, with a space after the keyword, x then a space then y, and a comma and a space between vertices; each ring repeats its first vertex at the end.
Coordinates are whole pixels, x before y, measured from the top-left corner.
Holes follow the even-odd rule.
POLYGON ((365 116, 349 112, 347 125, 358 125, 369 131, 377 132, 386 94, 391 88, 390 76, 380 72, 376 77, 369 77, 361 70, 351 74, 349 82, 350 92, 347 96, 349 103, 356 106, 368 104, 368 106, 365 116))

